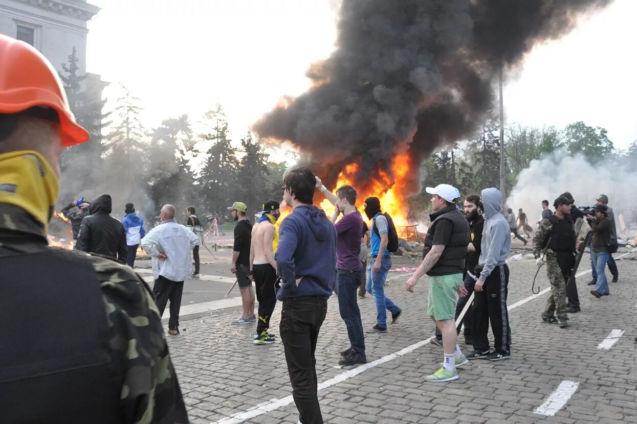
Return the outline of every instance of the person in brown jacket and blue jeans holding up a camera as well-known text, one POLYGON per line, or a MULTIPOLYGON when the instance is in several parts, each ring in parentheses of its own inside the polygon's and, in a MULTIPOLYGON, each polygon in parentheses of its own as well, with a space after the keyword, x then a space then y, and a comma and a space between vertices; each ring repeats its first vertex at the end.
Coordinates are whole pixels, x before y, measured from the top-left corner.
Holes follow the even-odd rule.
POLYGON ((590 227, 593 229, 590 257, 596 266, 598 279, 595 289, 591 290, 590 294, 599 299, 599 297, 610 294, 604 268, 606 267, 608 256, 610 256, 608 243, 612 235, 612 224, 608 217, 608 207, 606 205, 598 204, 593 210, 595 211, 595 217, 586 215, 586 219, 590 221, 590 227))

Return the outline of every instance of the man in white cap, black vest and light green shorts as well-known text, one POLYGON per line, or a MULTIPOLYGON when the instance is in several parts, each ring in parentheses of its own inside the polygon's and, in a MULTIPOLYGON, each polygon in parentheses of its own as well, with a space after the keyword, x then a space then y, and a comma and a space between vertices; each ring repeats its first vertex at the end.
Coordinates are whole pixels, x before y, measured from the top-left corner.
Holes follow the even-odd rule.
POLYGON ((427 312, 436 322, 443 339, 445 359, 436 373, 427 376, 427 381, 441 382, 457 380, 456 367, 463 366, 468 360, 457 344, 455 329, 455 294, 466 296, 462 284, 464 259, 470 241, 469 222, 458 209, 460 192, 449 184, 439 184, 435 188, 427 187, 434 213, 425 238, 424 259, 407 280, 405 288, 413 292, 422 275, 429 276, 429 302, 427 312))

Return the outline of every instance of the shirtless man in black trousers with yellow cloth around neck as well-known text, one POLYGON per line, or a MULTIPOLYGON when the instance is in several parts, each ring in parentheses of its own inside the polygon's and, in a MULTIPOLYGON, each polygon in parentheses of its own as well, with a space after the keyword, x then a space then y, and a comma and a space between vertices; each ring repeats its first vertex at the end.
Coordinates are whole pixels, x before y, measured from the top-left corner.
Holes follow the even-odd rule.
POLYGON ((263 215, 252 228, 250 271, 254 277, 257 301, 259 301, 255 345, 269 345, 275 341, 274 335, 268 333, 268 328, 276 304, 275 251, 276 245, 278 245, 278 229, 275 227, 275 222, 280 215, 279 203, 275 200, 268 200, 263 205, 263 215))

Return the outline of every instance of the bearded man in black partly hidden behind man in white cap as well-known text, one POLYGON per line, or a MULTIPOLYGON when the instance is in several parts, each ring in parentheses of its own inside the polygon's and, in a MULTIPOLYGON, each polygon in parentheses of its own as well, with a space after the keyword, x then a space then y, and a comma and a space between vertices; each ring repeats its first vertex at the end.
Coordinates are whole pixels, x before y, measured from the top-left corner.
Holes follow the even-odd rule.
MULTIPOLYGON (((471 293, 473 293, 473 287, 476 284, 475 278, 472 277, 475 272, 475 267, 480 259, 480 244, 482 243, 482 229, 484 228, 484 217, 482 213, 484 207, 480 202, 480 195, 469 195, 464 199, 464 217, 469 221, 469 235, 471 236, 471 242, 467 245, 467 258, 464 264, 464 278, 462 283, 467 291, 466 296, 458 298, 458 303, 455 305, 455 320, 458 319, 464 306, 467 304, 471 293), (471 273, 471 274, 469 274, 471 273)), ((473 306, 469 306, 467 313, 462 318, 464 323, 464 344, 473 345, 473 334, 471 333, 471 327, 473 325, 473 306)), ((460 334, 459 323, 456 323, 458 334, 460 334)), ((431 343, 436 346, 442 347, 442 333, 436 328, 436 338, 431 340, 431 343)))

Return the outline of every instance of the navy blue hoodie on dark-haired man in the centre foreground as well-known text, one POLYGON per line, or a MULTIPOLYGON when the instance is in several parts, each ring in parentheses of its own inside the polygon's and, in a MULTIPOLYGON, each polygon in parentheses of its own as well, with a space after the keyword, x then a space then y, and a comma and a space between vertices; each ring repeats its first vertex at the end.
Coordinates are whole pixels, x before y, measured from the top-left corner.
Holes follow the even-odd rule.
POLYGON ((276 298, 332 296, 336 282, 336 228, 313 205, 292 210, 279 226, 275 253, 281 288, 276 298), (296 279, 303 278, 297 287, 296 279))

